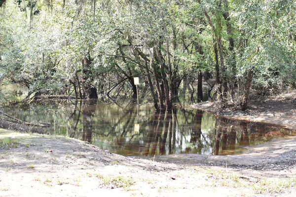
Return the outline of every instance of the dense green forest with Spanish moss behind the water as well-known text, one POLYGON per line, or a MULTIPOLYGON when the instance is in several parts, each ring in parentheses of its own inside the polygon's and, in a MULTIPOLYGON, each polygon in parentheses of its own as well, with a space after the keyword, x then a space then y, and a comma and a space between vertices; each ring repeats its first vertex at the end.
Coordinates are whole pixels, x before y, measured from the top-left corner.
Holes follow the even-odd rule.
POLYGON ((156 110, 186 93, 245 110, 296 88, 295 19, 295 0, 0 0, 0 82, 135 99, 140 77, 156 110))

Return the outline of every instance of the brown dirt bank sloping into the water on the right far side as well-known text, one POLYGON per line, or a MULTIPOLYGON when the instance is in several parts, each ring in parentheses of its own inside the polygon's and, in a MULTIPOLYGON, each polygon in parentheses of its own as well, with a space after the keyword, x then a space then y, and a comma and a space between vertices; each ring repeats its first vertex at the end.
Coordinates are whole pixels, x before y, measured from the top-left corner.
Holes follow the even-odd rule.
POLYGON ((269 98, 252 99, 246 111, 241 111, 238 103, 228 103, 225 109, 221 109, 220 106, 219 101, 191 105, 193 108, 227 118, 281 125, 296 130, 296 91, 269 98))

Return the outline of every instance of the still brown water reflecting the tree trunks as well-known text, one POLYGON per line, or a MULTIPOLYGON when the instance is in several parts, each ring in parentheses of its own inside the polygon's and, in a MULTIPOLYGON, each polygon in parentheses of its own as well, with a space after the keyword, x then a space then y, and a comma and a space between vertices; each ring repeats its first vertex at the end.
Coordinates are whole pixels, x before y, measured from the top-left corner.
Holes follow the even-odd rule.
POLYGON ((276 126, 233 121, 194 109, 155 113, 152 105, 34 104, 3 109, 26 122, 49 122, 52 135, 87 141, 126 156, 234 155, 248 146, 296 135, 276 126))

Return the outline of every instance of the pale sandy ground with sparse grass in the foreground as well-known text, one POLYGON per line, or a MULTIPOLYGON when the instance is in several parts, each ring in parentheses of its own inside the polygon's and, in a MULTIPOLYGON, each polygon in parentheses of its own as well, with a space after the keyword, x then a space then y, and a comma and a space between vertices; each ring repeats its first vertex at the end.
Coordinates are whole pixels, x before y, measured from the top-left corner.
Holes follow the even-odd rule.
POLYGON ((0 197, 295 197, 296 137, 242 155, 132 158, 0 129, 0 197))

